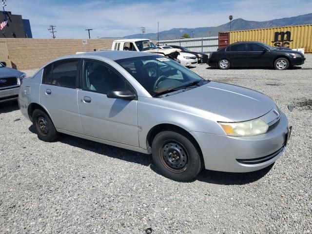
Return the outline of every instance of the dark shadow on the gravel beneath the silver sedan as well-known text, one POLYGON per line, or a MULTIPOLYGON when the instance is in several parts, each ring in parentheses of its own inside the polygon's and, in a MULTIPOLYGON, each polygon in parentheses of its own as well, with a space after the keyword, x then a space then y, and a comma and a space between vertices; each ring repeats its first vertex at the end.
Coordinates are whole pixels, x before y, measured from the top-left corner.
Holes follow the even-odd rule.
MULTIPOLYGON (((35 127, 31 125, 29 131, 35 134, 35 127)), ((127 162, 141 164, 143 166, 149 166, 156 174, 161 175, 159 170, 153 164, 152 155, 146 155, 131 150, 118 148, 111 145, 98 143, 95 141, 82 139, 79 137, 73 137, 66 134, 61 134, 59 142, 68 144, 70 146, 78 147, 83 150, 91 151, 99 155, 105 155, 112 158, 117 158, 127 162)), ((249 173, 228 173, 217 172, 203 169, 195 179, 189 181, 194 182, 196 180, 218 185, 243 185, 257 181, 265 176, 273 167, 273 164, 262 170, 249 173)))

